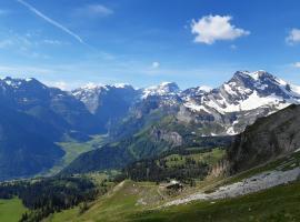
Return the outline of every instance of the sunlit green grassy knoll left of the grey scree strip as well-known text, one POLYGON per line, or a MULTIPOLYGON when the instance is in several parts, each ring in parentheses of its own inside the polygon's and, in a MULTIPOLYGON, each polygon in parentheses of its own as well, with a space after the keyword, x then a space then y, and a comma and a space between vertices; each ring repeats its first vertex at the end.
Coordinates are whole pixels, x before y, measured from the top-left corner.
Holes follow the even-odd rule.
POLYGON ((143 199, 149 204, 161 200, 154 183, 134 183, 124 181, 117 185, 113 191, 106 196, 98 199, 90 209, 79 214, 79 209, 56 213, 48 219, 48 222, 61 221, 123 221, 124 216, 130 216, 132 212, 141 211, 144 206, 137 204, 138 200, 143 199))

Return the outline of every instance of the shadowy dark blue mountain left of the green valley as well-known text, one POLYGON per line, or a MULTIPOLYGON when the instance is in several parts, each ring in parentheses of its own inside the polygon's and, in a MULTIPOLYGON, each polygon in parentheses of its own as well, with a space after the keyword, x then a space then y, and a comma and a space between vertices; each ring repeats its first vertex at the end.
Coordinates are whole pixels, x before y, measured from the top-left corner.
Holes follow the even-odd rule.
POLYGON ((0 79, 0 181, 47 171, 64 154, 56 142, 94 132, 96 119, 69 92, 34 79, 0 79))

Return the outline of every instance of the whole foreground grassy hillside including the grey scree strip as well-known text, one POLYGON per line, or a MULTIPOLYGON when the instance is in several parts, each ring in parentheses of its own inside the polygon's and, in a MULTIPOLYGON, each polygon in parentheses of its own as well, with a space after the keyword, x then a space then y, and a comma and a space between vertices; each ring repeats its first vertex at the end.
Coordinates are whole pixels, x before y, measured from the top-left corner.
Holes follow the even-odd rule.
POLYGON ((294 152, 230 178, 208 176, 180 192, 166 190, 163 183, 127 180, 91 202, 82 214, 73 208, 47 221, 298 221, 299 167, 300 153, 294 152), (287 182, 293 171, 298 174, 287 182))

